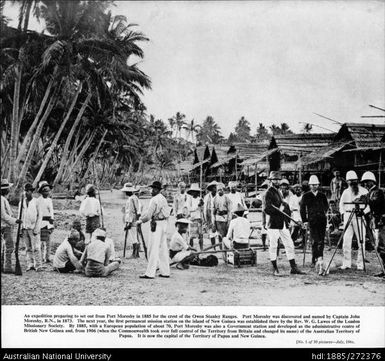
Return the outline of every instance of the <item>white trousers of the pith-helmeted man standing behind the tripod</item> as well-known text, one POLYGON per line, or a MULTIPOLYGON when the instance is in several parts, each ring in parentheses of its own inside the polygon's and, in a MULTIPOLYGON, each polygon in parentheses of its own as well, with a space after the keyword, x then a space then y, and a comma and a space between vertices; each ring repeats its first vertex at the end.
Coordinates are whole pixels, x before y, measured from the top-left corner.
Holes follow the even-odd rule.
MULTIPOLYGON (((346 216, 345 216, 346 217, 346 216)), ((362 268, 364 266, 364 260, 362 258, 361 252, 361 244, 359 239, 363 240, 363 249, 364 249, 364 257, 365 257, 365 237, 366 237, 366 229, 360 217, 353 216, 352 221, 349 224, 349 227, 346 229, 344 234, 344 241, 342 244, 342 251, 344 253, 344 260, 342 265, 345 267, 352 267, 352 239, 353 234, 356 235, 356 239, 358 242, 358 252, 357 252, 357 267, 362 268), (358 220, 358 226, 357 226, 358 220), (361 236, 360 236, 361 235, 361 236)))

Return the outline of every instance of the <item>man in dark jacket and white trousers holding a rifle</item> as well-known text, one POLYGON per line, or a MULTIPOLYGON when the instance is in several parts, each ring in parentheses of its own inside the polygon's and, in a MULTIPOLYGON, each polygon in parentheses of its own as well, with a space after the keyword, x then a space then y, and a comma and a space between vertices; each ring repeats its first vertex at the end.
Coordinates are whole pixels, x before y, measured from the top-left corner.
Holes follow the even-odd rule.
POLYGON ((274 268, 274 275, 280 276, 277 266, 277 246, 280 238, 285 250, 287 259, 290 262, 291 274, 304 274, 301 272, 294 259, 294 244, 289 231, 289 219, 284 213, 290 215, 290 208, 282 199, 279 191, 281 175, 279 172, 272 171, 269 177, 271 186, 267 189, 263 211, 269 216, 267 222, 267 234, 270 240, 269 254, 270 261, 274 268))

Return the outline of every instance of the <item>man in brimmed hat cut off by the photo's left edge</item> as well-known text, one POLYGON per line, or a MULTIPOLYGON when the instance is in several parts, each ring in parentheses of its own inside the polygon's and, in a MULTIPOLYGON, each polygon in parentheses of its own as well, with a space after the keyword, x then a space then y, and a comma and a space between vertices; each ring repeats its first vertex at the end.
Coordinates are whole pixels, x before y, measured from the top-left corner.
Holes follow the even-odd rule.
POLYGON ((4 273, 13 273, 12 252, 13 239, 12 228, 15 224, 21 223, 21 219, 13 217, 11 206, 6 198, 12 183, 8 179, 1 180, 1 269, 4 273))

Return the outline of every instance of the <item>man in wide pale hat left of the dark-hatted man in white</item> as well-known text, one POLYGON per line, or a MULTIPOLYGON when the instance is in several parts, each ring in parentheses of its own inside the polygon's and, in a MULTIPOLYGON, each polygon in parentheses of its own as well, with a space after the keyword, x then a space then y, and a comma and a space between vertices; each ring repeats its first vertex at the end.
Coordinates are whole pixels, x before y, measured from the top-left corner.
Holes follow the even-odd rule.
POLYGON ((132 183, 126 183, 121 189, 128 196, 125 206, 124 229, 128 231, 128 238, 132 243, 132 256, 131 258, 139 258, 139 246, 138 232, 136 222, 140 217, 141 205, 136 193, 138 190, 132 185, 132 183))

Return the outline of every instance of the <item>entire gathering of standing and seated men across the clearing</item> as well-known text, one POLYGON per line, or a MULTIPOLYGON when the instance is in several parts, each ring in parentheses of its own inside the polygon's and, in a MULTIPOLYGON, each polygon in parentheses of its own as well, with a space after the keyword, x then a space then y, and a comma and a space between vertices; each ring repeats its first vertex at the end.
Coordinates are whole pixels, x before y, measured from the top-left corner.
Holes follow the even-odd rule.
MULTIPOLYGON (((351 245, 353 235, 361 243, 358 252, 357 269, 362 270, 365 262, 366 226, 373 230, 377 251, 385 261, 385 199, 384 193, 376 185, 373 173, 365 172, 359 185, 354 171, 346 174, 347 188, 343 189, 339 174, 335 173, 335 191, 332 198, 339 203, 343 217, 343 264, 341 269, 352 267, 351 245), (356 209, 359 211, 355 211, 356 209)), ((345 180, 344 180, 345 182, 345 180)), ((333 183, 333 181, 332 181, 333 183)), ((177 263, 178 268, 187 268, 188 261, 197 250, 194 240, 198 240, 203 250, 203 233, 210 238, 212 247, 223 245, 227 248, 245 248, 249 245, 250 222, 246 215, 248 209, 237 183, 228 184, 225 193, 223 183, 213 181, 206 187, 207 194, 197 183, 178 184, 178 192, 172 207, 162 194, 163 187, 158 181, 151 184, 152 198, 146 210, 143 210, 137 197, 138 189, 132 184, 125 184, 122 191, 128 196, 124 209, 124 223, 127 235, 132 243, 132 258, 139 257, 140 239, 147 248, 148 265, 140 277, 153 279, 159 270, 159 276, 170 276, 170 263, 177 263), (176 231, 171 241, 167 242, 168 220, 171 214, 176 218, 176 231), (150 222, 149 237, 144 242, 141 224, 150 222), (217 242, 218 239, 218 243, 217 242), (232 241, 232 245, 230 243, 232 241)), ((51 186, 42 181, 37 188, 40 196, 34 198, 34 187, 24 186, 23 203, 19 204, 19 217, 13 216, 6 199, 12 186, 7 180, 1 184, 1 233, 4 243, 4 272, 11 273, 14 242, 12 226, 21 224, 22 235, 26 245, 27 271, 44 270, 43 263, 51 262, 50 236, 53 229, 54 212, 49 197, 51 186), (43 246, 42 246, 43 245, 43 246)), ((265 247, 269 240, 269 257, 273 274, 280 276, 277 254, 279 241, 283 244, 286 257, 290 263, 291 274, 303 274, 295 261, 294 242, 299 233, 308 229, 312 244, 312 264, 322 274, 325 270, 323 252, 327 226, 329 203, 320 189, 317 176, 312 175, 308 181, 309 189, 296 184, 290 190, 290 184, 282 179, 280 172, 272 171, 268 177, 268 188, 262 195, 262 242, 265 247), (265 237, 264 237, 265 235, 265 237)), ((76 221, 65 241, 56 250, 53 266, 61 273, 84 270, 87 276, 106 276, 117 269, 120 260, 114 255, 114 245, 106 236, 106 230, 100 226, 102 207, 96 198, 95 187, 89 185, 87 196, 82 201, 79 213, 86 218, 86 234, 81 231, 80 221, 76 221)), ((2 253, 3 257, 3 253, 2 253)), ((383 274, 379 274, 382 275, 383 274)))

